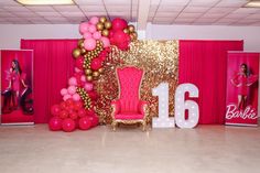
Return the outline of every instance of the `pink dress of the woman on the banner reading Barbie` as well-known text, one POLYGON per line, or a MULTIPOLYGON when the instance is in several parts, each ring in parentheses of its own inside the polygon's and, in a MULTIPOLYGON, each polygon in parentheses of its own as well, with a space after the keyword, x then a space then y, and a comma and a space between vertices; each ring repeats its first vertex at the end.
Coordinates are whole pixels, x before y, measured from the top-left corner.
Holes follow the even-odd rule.
POLYGON ((247 96, 249 86, 258 80, 257 75, 246 76, 243 74, 237 74, 231 82, 238 87, 238 95, 247 96))

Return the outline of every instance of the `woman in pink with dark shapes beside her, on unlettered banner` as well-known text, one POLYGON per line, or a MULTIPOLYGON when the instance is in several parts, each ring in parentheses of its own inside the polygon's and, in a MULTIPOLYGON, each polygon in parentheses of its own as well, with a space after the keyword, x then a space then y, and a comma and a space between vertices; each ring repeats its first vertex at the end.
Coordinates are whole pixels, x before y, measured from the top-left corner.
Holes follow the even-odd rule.
POLYGON ((8 87, 2 93, 3 107, 2 112, 9 113, 12 110, 22 108, 23 112, 32 113, 32 107, 28 107, 28 97, 32 93, 31 88, 25 84, 26 74, 22 72, 18 60, 12 60, 10 69, 6 71, 8 87))

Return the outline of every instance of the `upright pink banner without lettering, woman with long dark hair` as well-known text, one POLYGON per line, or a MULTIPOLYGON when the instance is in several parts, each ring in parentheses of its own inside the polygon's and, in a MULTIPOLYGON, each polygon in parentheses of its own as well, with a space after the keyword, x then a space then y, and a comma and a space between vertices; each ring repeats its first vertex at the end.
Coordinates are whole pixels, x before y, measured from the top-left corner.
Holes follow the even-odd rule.
POLYGON ((2 50, 1 123, 33 123, 33 51, 2 50))

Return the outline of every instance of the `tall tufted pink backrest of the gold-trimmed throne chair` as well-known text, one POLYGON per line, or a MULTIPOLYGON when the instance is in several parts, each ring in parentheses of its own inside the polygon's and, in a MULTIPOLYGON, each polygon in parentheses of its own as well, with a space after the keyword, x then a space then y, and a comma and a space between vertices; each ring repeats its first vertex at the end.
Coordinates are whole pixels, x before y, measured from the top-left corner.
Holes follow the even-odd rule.
POLYGON ((119 100, 122 112, 138 111, 140 87, 144 71, 133 66, 117 68, 119 100))

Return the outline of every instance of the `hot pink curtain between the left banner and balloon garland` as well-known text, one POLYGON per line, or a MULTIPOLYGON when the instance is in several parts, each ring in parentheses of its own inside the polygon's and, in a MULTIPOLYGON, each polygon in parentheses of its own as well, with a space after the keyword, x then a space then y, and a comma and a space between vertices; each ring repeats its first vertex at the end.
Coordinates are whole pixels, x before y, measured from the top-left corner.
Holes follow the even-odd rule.
POLYGON ((51 118, 50 108, 62 100, 59 90, 74 72, 72 50, 77 40, 22 40, 21 48, 34 51, 35 123, 51 118))

